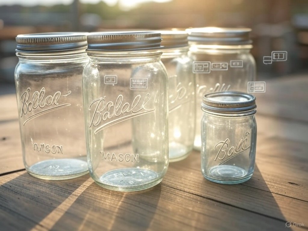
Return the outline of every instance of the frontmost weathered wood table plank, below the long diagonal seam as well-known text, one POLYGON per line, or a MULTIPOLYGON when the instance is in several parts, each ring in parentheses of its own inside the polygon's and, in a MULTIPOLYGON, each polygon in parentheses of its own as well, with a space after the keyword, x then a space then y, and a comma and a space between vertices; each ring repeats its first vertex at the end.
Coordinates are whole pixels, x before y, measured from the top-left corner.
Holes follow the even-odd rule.
POLYGON ((163 184, 119 193, 88 175, 45 181, 25 172, 0 184, 4 230, 282 230, 286 223, 163 184))

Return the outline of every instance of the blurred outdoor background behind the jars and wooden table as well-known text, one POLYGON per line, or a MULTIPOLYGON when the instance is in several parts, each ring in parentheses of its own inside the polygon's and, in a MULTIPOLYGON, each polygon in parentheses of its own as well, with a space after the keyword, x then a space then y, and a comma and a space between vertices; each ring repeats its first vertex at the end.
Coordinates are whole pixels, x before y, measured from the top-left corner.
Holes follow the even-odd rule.
POLYGON ((203 26, 252 28, 257 80, 308 73, 307 0, 0 0, 0 85, 14 83, 17 34, 203 26), (271 51, 288 60, 263 64, 271 51))

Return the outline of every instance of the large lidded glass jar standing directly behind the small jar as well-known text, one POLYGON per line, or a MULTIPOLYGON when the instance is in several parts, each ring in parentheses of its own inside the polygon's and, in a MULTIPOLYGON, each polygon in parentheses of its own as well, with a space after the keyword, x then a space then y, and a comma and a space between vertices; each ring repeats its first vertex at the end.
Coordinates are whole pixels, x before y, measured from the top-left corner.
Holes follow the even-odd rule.
POLYGON ((189 54, 196 84, 194 148, 200 150, 200 105, 203 95, 218 91, 247 92, 255 81, 256 64, 250 54, 249 28, 203 27, 188 29, 189 54))

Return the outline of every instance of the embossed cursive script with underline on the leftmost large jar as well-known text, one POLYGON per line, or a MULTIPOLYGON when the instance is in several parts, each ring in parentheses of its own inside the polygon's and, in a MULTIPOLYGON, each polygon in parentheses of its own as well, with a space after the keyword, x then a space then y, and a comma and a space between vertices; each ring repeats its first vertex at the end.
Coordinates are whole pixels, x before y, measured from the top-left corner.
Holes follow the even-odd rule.
MULTIPOLYGON (((43 111, 39 111, 37 113, 34 113, 33 115, 29 116, 24 122, 23 125, 25 125, 28 121, 43 115, 47 112, 50 111, 55 111, 58 110, 60 108, 63 107, 68 107, 71 106, 70 103, 63 103, 60 104, 58 103, 58 100, 61 97, 61 92, 60 91, 56 91, 54 95, 48 95, 47 97, 45 97, 45 87, 42 87, 42 89, 40 91, 34 91, 33 95, 32 95, 32 101, 29 100, 30 98, 30 91, 31 88, 28 87, 27 90, 25 92, 22 93, 20 100, 22 102, 22 107, 20 110, 20 117, 22 117, 22 115, 26 115, 28 112, 34 111, 37 108, 45 108, 45 107, 49 107, 43 111)), ((67 97, 68 95, 71 94, 71 91, 68 91, 67 94, 62 95, 62 97, 67 97)))

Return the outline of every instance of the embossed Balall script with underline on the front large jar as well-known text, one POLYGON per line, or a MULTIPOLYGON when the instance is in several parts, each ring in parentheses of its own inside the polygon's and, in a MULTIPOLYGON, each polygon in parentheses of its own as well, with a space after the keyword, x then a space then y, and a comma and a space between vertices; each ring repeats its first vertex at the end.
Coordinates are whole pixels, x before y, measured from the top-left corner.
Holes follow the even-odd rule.
POLYGON ((118 95, 115 102, 106 102, 105 98, 106 95, 95 99, 89 106, 89 111, 91 111, 92 107, 94 108, 89 128, 100 125, 95 129, 95 134, 113 124, 155 111, 155 109, 146 108, 146 104, 150 99, 149 93, 145 95, 144 99, 141 99, 141 95, 137 95, 132 100, 132 103, 123 103, 123 95, 118 95), (101 125, 101 122, 106 120, 109 121, 101 125))

